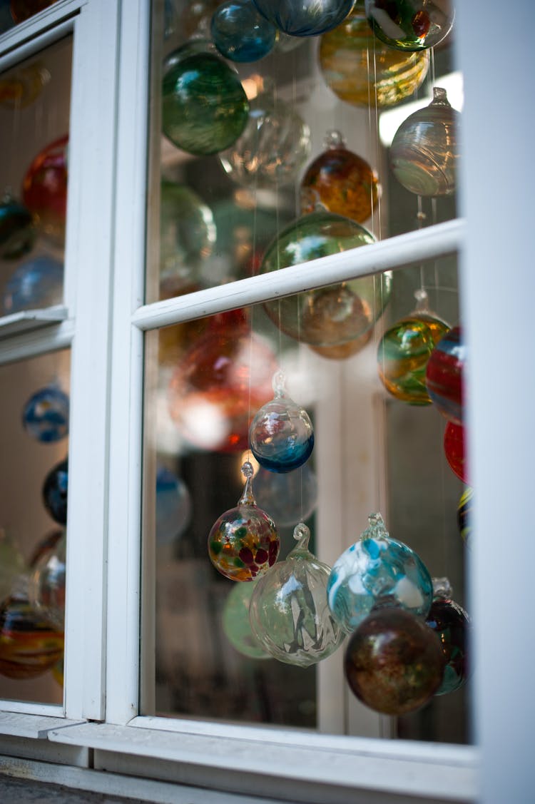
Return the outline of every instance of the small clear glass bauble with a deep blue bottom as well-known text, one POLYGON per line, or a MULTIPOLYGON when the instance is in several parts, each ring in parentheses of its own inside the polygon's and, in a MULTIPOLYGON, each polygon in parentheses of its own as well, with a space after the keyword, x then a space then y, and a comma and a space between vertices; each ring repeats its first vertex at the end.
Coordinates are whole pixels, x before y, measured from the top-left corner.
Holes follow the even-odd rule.
POLYGON ((305 408, 286 394, 284 375, 273 380, 274 399, 263 405, 249 429, 251 452, 270 472, 291 472, 302 466, 314 449, 314 429, 305 408))

